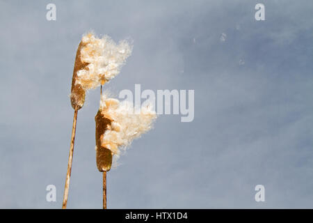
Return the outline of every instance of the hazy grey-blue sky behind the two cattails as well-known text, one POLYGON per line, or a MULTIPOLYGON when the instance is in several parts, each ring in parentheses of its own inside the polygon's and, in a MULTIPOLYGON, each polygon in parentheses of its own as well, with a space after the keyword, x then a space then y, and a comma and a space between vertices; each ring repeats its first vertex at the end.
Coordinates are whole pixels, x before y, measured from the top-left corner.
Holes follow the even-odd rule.
MULTIPOLYGON (((109 171, 108 208, 313 208, 312 12, 312 1, 0 1, 0 208, 61 208, 74 56, 91 30, 134 40, 111 93, 195 90, 193 122, 159 116, 109 171)), ((99 91, 79 110, 68 208, 102 208, 99 91)))

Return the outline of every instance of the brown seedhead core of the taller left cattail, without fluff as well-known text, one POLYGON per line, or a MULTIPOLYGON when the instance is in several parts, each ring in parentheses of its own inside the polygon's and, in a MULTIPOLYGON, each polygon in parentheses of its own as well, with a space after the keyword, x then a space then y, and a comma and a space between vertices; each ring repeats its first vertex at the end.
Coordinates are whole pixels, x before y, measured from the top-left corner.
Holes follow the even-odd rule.
POLYGON ((73 109, 81 109, 81 107, 83 107, 83 102, 85 102, 86 92, 83 90, 80 84, 76 83, 77 71, 82 70, 88 66, 88 63, 83 63, 83 61, 81 61, 81 47, 83 47, 82 42, 79 43, 79 47, 77 49, 72 77, 71 104, 73 109))

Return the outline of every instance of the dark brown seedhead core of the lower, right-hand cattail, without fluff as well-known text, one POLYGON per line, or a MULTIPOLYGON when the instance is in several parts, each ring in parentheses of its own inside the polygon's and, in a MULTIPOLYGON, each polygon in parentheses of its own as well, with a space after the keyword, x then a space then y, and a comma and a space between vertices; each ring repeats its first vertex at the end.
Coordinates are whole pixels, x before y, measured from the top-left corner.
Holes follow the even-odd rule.
POLYGON ((99 110, 95 116, 96 123, 96 160, 97 168, 100 172, 109 171, 112 165, 112 152, 108 148, 101 146, 101 137, 111 125, 111 120, 104 117, 99 110))

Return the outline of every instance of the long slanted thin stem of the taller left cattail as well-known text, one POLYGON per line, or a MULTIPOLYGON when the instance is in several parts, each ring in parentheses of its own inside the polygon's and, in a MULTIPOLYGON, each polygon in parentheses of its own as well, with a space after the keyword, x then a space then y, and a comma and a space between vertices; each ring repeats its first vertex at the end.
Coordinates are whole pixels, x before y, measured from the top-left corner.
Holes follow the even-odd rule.
POLYGON ((77 113, 78 113, 78 109, 75 109, 74 121, 73 121, 73 127, 72 127, 72 139, 71 139, 71 146, 70 146, 70 155, 68 157, 67 174, 66 174, 65 189, 64 189, 64 196, 63 196, 63 205, 62 205, 63 209, 66 209, 67 198, 68 198, 68 189, 70 187, 70 177, 71 177, 72 161, 73 161, 73 153, 74 153, 74 140, 75 140, 75 132, 76 132, 77 113))

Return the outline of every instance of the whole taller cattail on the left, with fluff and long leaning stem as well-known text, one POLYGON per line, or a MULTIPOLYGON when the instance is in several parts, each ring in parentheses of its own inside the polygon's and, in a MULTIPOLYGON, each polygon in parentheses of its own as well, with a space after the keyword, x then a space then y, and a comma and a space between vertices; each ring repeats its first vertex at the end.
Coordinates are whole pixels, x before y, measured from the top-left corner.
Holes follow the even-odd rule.
POLYGON ((131 45, 126 40, 120 41, 117 45, 109 36, 97 38, 93 33, 84 35, 81 43, 79 43, 74 63, 70 95, 71 104, 74 109, 74 121, 62 208, 66 208, 67 206, 77 113, 83 107, 86 91, 96 89, 97 86, 102 86, 105 82, 118 75, 120 68, 131 54, 131 48, 131 45))

